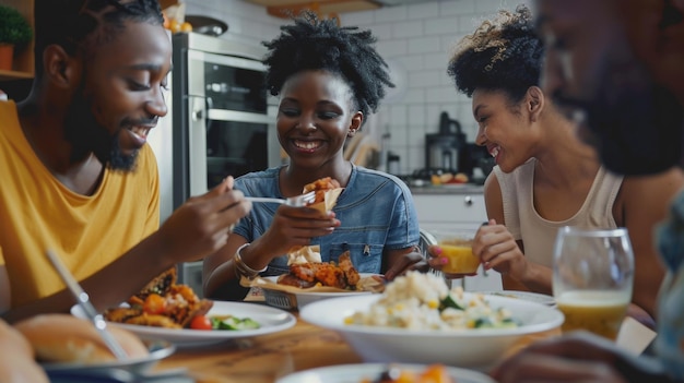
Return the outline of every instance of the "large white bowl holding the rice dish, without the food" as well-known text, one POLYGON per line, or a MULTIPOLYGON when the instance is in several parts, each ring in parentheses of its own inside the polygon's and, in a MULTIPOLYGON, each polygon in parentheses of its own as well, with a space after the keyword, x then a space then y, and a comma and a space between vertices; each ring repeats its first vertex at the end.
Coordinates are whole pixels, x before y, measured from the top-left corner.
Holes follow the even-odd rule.
MULTIPOLYGON (((472 294, 465 292, 470 300, 472 294)), ((299 311, 311 324, 339 332, 365 362, 444 363, 485 370, 495 364, 518 339, 561 326, 563 313, 522 299, 487 296, 492 308, 506 308, 522 324, 515 328, 416 331, 344 324, 356 311, 367 311, 379 295, 331 298, 299 311)))

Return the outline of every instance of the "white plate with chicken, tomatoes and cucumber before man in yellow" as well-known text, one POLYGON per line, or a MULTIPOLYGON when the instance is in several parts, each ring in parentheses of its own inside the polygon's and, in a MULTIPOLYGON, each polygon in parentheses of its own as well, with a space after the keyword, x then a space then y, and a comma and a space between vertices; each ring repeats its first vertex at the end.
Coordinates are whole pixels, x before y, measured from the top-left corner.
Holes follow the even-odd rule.
MULTIPOLYGON (((71 313, 86 318, 80 306, 71 313)), ((270 334, 295 325, 291 313, 245 302, 200 299, 187 285, 176 284, 169 268, 119 307, 103 313, 113 326, 142 339, 197 346, 270 334)))

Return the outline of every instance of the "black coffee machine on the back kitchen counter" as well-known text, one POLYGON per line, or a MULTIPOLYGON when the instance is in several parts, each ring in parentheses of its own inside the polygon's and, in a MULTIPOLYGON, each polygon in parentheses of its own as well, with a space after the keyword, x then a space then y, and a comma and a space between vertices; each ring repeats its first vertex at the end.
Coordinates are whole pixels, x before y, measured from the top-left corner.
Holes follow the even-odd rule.
POLYGON ((465 134, 460 122, 443 111, 439 115, 439 132, 425 135, 425 167, 429 171, 457 173, 464 148, 465 134))

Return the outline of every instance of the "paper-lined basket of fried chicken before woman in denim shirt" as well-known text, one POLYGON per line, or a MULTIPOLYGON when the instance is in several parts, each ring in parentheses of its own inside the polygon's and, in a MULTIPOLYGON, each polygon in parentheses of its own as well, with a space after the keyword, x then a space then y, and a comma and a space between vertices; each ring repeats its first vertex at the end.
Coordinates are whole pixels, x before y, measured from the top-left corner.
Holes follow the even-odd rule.
POLYGON ((381 291, 384 279, 377 274, 358 273, 349 251, 338 262, 321 262, 318 247, 304 247, 288 253, 290 273, 258 277, 249 282, 263 291, 270 306, 297 310, 317 300, 381 291))

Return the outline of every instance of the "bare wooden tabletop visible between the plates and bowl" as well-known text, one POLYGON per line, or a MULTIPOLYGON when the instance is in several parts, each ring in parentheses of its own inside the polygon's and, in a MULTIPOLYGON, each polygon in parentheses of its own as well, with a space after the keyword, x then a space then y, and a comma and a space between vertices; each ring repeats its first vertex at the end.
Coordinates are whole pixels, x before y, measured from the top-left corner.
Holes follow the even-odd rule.
MULTIPOLYGON (((559 334, 561 330, 554 328, 527 335, 514 344, 507 355, 534 340, 559 334)), ((205 347, 178 348, 161 360, 154 371, 185 368, 197 383, 272 383, 296 371, 361 362, 363 360, 340 334, 297 319, 293 327, 278 333, 205 347)))

